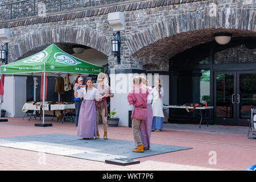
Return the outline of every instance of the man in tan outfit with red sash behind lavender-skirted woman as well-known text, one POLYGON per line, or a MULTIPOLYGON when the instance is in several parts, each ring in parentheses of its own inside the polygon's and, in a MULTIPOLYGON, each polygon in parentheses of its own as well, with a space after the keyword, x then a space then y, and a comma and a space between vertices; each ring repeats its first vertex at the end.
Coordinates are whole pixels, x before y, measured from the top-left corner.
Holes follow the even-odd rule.
MULTIPOLYGON (((108 75, 105 73, 99 73, 98 78, 97 78, 98 83, 93 84, 92 86, 96 89, 98 89, 98 92, 100 92, 101 96, 104 96, 105 94, 106 97, 114 97, 114 94, 112 93, 110 86, 108 85, 108 75)), ((96 105, 96 123, 97 123, 97 137, 100 138, 100 133, 98 131, 98 122, 100 119, 100 113, 101 113, 101 118, 103 122, 103 127, 104 127, 104 139, 108 139, 108 107, 106 103, 106 98, 103 98, 102 101, 97 102, 95 101, 96 105)))

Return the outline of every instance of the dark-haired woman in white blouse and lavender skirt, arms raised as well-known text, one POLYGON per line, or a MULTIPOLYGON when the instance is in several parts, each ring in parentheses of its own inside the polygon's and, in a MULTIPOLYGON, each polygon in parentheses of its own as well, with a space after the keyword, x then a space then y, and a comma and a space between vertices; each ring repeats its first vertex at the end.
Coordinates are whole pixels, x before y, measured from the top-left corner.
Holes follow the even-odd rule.
POLYGON ((93 139, 97 134, 94 99, 96 101, 101 101, 105 95, 101 96, 98 90, 92 86, 92 78, 88 77, 85 82, 86 86, 79 90, 77 90, 77 87, 82 86, 75 84, 75 97, 84 97, 80 107, 77 137, 81 137, 82 139, 93 139))

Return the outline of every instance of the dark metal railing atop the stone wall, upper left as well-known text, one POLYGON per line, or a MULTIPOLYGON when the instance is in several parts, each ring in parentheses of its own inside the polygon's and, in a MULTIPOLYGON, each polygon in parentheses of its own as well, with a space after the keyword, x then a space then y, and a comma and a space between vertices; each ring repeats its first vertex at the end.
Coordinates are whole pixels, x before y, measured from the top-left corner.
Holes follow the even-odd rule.
MULTIPOLYGON (((125 1, 125 0, 121 0, 125 1)), ((39 15, 39 11, 43 13, 53 13, 64 10, 73 10, 81 7, 90 7, 101 5, 110 2, 120 2, 120 0, 59 0, 56 1, 40 1, 40 0, 23 0, 18 2, 6 3, 0 5, 0 20, 10 20, 15 18, 22 18, 26 16, 39 15), (27 5, 25 5, 27 3, 27 5), (31 8, 32 5, 32 8, 31 8), (39 5, 44 5, 43 8, 39 8, 39 5), (73 6, 72 6, 73 5, 73 6), (26 7, 28 6, 28 7, 26 7), (46 7, 51 6, 51 7, 46 7), (65 8, 66 6, 66 8, 65 8), (26 12, 23 9, 26 9, 26 12), (20 11, 21 10, 21 11, 20 11)))

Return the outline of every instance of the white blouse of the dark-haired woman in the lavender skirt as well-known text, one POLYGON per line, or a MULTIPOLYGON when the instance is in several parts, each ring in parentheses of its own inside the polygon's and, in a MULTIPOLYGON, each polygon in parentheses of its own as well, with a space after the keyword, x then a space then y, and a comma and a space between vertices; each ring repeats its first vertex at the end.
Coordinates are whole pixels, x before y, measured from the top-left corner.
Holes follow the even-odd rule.
POLYGON ((94 87, 91 90, 87 90, 87 93, 86 93, 85 87, 77 90, 77 96, 80 98, 84 97, 84 100, 94 100, 95 99, 96 101, 101 101, 100 100, 101 94, 94 87))

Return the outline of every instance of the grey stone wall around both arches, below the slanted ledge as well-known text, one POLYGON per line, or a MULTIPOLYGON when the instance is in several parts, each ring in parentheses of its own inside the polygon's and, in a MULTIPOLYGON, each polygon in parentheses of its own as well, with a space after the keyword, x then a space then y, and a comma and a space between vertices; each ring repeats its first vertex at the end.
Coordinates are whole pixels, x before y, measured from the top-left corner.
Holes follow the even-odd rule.
POLYGON ((9 60, 51 43, 76 43, 109 56, 109 68, 168 71, 168 60, 185 49, 214 40, 214 32, 256 36, 253 1, 126 1, 61 14, 0 22, 10 28, 9 60), (245 3, 246 2, 246 3, 245 3), (113 29, 108 13, 125 13, 121 64, 110 56, 113 29))

